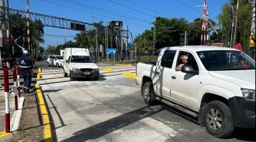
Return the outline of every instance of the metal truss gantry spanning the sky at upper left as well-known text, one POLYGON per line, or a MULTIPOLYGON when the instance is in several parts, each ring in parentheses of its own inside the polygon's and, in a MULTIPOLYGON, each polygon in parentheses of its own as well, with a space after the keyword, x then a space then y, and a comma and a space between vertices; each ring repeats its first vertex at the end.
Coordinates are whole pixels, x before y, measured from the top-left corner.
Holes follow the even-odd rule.
MULTIPOLYGON (((5 9, 5 17, 7 16, 8 9, 7 7, 0 7, 0 9, 5 9)), ((22 17, 27 16, 26 11, 21 11, 17 9, 9 9, 9 14, 19 14, 22 15, 22 17)), ((83 21, 75 21, 73 19, 66 19, 66 18, 61 18, 61 17, 55 17, 51 15, 43 15, 39 13, 32 13, 30 12, 30 20, 31 21, 40 21, 41 23, 35 23, 31 22, 31 24, 34 25, 44 25, 48 27, 57 27, 61 29, 71 29, 75 31, 85 31, 85 32, 92 32, 92 33, 97 33, 100 35, 106 35, 107 36, 116 36, 116 37, 123 37, 123 38, 129 38, 129 31, 128 30, 123 30, 123 29, 115 29, 115 28, 110 28, 110 27, 105 27, 105 26, 96 26, 93 25, 92 23, 86 23, 83 21), (106 32, 108 30, 108 32, 106 32)), ((0 19, 3 20, 3 19, 0 19)), ((8 19, 7 19, 8 20, 8 19)), ((9 19, 9 21, 13 22, 19 22, 19 23, 24 23, 26 24, 26 21, 15 21, 9 19)))

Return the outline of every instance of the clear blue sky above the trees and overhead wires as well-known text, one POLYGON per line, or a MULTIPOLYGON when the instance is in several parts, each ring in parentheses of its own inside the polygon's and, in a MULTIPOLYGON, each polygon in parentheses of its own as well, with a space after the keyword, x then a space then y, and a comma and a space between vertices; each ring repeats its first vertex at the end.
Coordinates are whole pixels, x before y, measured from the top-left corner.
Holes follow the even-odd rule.
MULTIPOLYGON (((7 0, 5 0, 6 2, 7 0)), ((103 21, 106 26, 110 21, 123 21, 123 28, 128 25, 129 33, 135 36, 151 29, 155 17, 168 19, 184 17, 189 22, 203 17, 203 0, 9 0, 9 8, 27 10, 43 15, 51 15, 86 23, 103 21)), ((228 0, 206 0, 208 18, 218 23, 222 5, 228 0)), ((73 40, 80 31, 44 27, 43 48, 65 44, 73 40)), ((128 42, 131 42, 129 35, 128 42)))

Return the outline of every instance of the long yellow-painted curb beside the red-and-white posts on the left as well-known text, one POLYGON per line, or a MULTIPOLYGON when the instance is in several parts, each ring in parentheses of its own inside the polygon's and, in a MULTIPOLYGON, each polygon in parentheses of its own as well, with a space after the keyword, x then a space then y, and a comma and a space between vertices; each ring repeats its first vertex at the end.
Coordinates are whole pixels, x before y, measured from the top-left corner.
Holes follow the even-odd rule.
POLYGON ((49 119, 49 113, 46 109, 46 105, 44 102, 44 97, 42 96, 42 92, 39 84, 36 84, 35 86, 36 86, 36 92, 38 96, 38 104, 40 106, 40 112, 42 115, 42 123, 44 125, 44 141, 53 141, 51 122, 49 119))

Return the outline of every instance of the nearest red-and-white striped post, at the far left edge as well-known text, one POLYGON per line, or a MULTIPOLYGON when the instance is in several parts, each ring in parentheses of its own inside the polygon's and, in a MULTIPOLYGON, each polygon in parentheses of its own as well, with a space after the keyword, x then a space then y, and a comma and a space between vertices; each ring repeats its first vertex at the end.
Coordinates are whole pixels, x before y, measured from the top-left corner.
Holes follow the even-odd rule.
POLYGON ((10 133, 10 108, 9 108, 9 75, 8 70, 3 70, 3 82, 5 84, 5 133, 10 133))

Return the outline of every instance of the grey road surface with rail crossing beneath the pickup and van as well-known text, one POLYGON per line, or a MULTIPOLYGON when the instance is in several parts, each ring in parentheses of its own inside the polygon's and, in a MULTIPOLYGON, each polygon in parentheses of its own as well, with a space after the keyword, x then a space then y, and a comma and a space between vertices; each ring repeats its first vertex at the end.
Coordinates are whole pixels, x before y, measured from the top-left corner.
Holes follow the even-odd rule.
POLYGON ((121 75, 134 73, 134 66, 98 64, 99 80, 71 82, 62 68, 37 64, 55 141, 255 141, 255 129, 236 129, 231 137, 218 139, 195 118, 166 104, 148 106, 135 80, 121 75))

